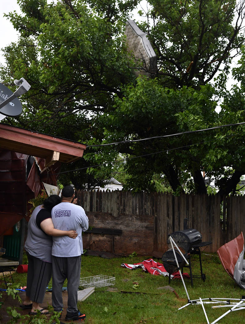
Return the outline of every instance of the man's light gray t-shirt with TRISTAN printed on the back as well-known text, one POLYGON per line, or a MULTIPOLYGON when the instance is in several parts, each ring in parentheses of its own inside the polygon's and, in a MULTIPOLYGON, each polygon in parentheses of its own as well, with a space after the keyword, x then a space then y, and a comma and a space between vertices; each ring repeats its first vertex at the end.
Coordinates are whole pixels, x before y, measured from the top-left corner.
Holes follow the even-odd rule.
POLYGON ((81 206, 59 203, 51 212, 54 227, 63 231, 75 230, 78 236, 53 237, 52 255, 55 257, 77 257, 83 254, 82 232, 89 227, 89 220, 81 206))

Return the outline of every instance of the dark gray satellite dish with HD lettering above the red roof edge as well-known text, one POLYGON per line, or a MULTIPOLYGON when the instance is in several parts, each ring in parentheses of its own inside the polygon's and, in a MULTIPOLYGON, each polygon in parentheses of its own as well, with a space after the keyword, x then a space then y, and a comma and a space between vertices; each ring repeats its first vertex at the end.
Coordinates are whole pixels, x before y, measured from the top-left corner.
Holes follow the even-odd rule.
MULTIPOLYGON (((0 83, 0 115, 13 117, 22 112, 22 105, 17 97, 27 92, 31 86, 24 78, 15 80, 14 83, 19 86, 14 93, 0 83)), ((1 119, 3 118, 0 116, 1 119)))

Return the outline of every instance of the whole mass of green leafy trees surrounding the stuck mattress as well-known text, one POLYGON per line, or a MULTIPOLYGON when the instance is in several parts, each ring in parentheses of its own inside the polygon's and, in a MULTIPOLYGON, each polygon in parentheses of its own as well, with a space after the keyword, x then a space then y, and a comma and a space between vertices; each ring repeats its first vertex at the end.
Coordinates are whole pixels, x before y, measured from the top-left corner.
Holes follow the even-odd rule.
POLYGON ((141 67, 127 52, 124 28, 138 2, 19 1, 24 15, 9 18, 21 37, 4 49, 1 78, 24 76, 31 90, 24 113, 7 122, 87 144, 84 161, 70 167, 78 187, 110 178, 123 154, 125 188, 156 190, 158 175, 175 193, 202 193, 204 169, 228 194, 245 174, 242 126, 194 131, 244 120, 224 88, 244 42, 245 2, 149 0, 141 11, 148 19, 138 25, 148 31, 158 71, 136 78, 141 67), (84 175, 88 166, 93 180, 84 175))

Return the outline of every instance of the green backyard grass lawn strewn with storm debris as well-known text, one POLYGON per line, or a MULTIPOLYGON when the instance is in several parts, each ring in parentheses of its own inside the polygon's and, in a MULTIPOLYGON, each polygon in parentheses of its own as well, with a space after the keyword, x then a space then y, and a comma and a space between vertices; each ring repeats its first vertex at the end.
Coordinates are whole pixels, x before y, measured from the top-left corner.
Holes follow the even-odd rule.
MULTIPOLYGON (((90 324, 204 324, 207 323, 201 305, 189 305, 181 310, 179 307, 188 303, 188 298, 181 280, 171 280, 171 292, 159 289, 168 284, 168 277, 151 275, 141 269, 129 270, 121 267, 122 263, 138 263, 142 256, 104 259, 100 257, 82 256, 81 277, 98 274, 116 277, 115 285, 95 288, 95 292, 85 301, 79 302, 80 311, 87 315, 85 323, 90 324), (138 287, 134 286, 138 283, 138 287), (137 289, 134 289, 137 288, 137 289), (127 292, 122 293, 121 291, 127 292)), ((156 261, 161 262, 161 260, 156 261)), ((193 275, 200 275, 198 256, 191 257, 193 275)), ((190 299, 202 298, 241 298, 245 295, 225 272, 217 254, 202 253, 202 268, 206 274, 203 282, 193 278, 193 287, 185 279, 190 299)), ((184 272, 188 272, 188 268, 184 272)), ((14 274, 15 283, 26 285, 26 273, 14 274)), ((64 284, 66 286, 66 282, 64 284)), ((52 287, 52 281, 49 284, 52 287)), ((2 285, 2 288, 4 286, 2 285)), ((210 304, 204 305, 209 322, 225 313, 229 308, 212 309, 210 304)), ((244 324, 245 310, 229 313, 218 323, 244 324)))

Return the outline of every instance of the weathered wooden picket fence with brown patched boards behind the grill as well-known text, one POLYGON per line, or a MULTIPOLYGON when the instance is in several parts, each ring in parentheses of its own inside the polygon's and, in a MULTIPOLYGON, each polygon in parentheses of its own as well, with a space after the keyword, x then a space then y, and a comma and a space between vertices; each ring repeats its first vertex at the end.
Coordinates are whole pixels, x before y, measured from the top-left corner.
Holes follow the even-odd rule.
POLYGON ((206 251, 216 252, 237 237, 245 224, 244 196, 227 197, 221 205, 219 195, 205 194, 175 197, 163 193, 78 191, 77 195, 91 226, 83 235, 85 249, 165 252, 168 234, 194 228, 202 234, 203 242, 212 242, 206 251))

